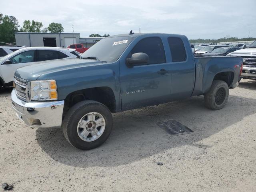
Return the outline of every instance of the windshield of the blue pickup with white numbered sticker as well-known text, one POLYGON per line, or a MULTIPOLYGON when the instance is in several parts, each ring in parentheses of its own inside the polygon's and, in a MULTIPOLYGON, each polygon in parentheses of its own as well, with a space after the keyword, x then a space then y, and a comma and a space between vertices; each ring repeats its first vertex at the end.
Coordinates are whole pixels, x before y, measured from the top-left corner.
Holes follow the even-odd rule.
POLYGON ((115 62, 133 40, 133 37, 110 37, 100 40, 84 52, 82 58, 97 58, 100 61, 115 62))

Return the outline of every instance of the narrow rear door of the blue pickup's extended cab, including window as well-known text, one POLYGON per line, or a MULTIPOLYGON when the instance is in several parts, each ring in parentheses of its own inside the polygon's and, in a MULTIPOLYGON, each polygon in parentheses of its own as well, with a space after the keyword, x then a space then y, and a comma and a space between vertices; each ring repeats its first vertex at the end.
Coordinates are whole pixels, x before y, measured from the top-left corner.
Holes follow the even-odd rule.
POLYGON ((195 80, 195 63, 190 44, 186 38, 168 37, 168 45, 171 52, 170 98, 171 100, 188 98, 193 92, 195 80))

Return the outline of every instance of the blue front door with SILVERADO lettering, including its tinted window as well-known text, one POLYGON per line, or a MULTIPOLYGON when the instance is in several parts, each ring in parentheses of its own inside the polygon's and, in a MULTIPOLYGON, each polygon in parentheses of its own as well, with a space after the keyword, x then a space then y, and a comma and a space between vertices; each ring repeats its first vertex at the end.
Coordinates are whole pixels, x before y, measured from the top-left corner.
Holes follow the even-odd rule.
POLYGON ((149 37, 140 40, 127 58, 138 52, 148 54, 148 63, 132 68, 120 63, 122 110, 164 103, 170 98, 170 64, 166 63, 161 38, 149 37))

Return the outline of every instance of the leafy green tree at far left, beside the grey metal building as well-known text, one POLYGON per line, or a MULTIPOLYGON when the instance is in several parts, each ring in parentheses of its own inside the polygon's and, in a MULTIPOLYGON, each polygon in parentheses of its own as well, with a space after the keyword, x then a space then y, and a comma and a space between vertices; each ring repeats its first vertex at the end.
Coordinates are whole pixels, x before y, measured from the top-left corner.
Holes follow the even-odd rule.
POLYGON ((18 20, 14 16, 0 14, 0 42, 15 42, 14 33, 18 32, 18 20))

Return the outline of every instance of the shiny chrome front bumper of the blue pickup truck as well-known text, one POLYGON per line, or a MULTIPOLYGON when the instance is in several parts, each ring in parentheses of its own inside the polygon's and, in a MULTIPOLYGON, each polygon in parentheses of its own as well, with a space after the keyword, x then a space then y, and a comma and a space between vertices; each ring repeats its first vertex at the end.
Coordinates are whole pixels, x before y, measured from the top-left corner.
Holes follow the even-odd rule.
POLYGON ((56 127, 61 126, 64 100, 51 102, 25 102, 11 93, 12 108, 20 120, 29 126, 56 127))

